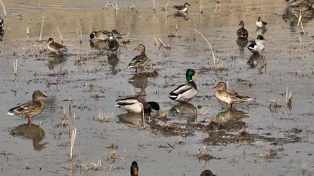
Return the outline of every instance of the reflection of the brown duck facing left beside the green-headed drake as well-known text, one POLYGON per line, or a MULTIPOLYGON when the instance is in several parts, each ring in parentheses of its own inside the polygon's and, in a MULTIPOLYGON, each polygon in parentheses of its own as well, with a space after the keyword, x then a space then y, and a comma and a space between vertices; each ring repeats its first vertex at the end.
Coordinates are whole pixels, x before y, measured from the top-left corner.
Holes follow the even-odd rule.
POLYGON ((225 111, 221 111, 219 112, 215 119, 214 122, 217 123, 226 123, 226 122, 233 122, 233 121, 237 121, 241 118, 246 118, 249 117, 250 114, 249 113, 245 113, 242 110, 225 110, 225 111))

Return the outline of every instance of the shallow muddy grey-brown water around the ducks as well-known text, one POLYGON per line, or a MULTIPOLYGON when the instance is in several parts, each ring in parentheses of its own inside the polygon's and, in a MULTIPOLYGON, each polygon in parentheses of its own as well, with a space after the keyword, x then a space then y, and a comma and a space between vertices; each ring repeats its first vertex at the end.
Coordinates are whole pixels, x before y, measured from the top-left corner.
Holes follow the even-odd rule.
MULTIPOLYGON (((112 7, 106 9, 101 0, 4 0, 8 17, 3 41, 0 42, 0 175, 125 176, 129 175, 133 160, 139 164, 140 175, 151 176, 197 176, 205 169, 218 176, 300 176, 303 162, 312 167, 312 38, 298 33, 297 21, 283 20, 279 10, 283 11, 284 2, 223 0, 219 6, 215 1, 205 2, 204 14, 200 15, 199 4, 192 1, 189 2, 192 7, 188 16, 178 16, 170 8, 168 13, 161 11, 165 5, 163 1, 156 1, 156 15, 152 2, 136 0, 132 3, 136 8, 133 12, 129 10, 131 2, 119 0, 116 14, 112 7), (63 35, 63 44, 69 48, 64 58, 56 60, 45 50, 46 43, 37 42, 42 16, 45 18, 42 40, 53 37, 61 43, 58 27, 63 35), (262 58, 252 56, 247 48, 241 48, 236 43, 235 32, 240 20, 245 22, 249 38, 256 38, 255 21, 258 16, 268 22, 264 34, 268 41, 262 53, 267 57, 266 66, 262 58), (80 23, 83 34, 81 44, 80 23), (176 24, 178 33, 175 31, 176 24), (212 44, 221 70, 212 69, 209 46, 200 35, 188 29, 195 26, 212 44), (122 46, 117 57, 100 55, 97 47, 90 46, 89 34, 102 29, 130 33, 131 44, 122 46), (170 39, 167 37, 170 34, 179 37, 170 39), (170 44, 171 49, 158 50, 154 37, 170 44), (137 44, 145 44, 152 69, 158 70, 156 77, 136 78, 133 70, 126 68, 138 54, 133 51, 137 44), (78 57, 87 60, 76 62, 78 57), (17 58, 15 79, 12 63, 17 58), (182 107, 171 102, 167 94, 175 85, 184 83, 187 68, 194 68, 202 77, 195 78, 200 90, 198 96, 182 107), (215 81, 228 81, 229 88, 252 97, 253 101, 227 111, 226 106, 212 96, 211 87, 217 83, 215 81), (284 103, 287 87, 293 91, 290 110, 284 103), (182 132, 153 130, 149 117, 148 128, 139 128, 143 123, 141 116, 127 114, 114 107, 116 98, 133 94, 132 89, 141 91, 143 88, 146 98, 159 102, 167 114, 166 121, 151 117, 154 123, 166 125, 175 122, 186 128, 186 136, 182 132), (44 100, 46 109, 33 119, 30 127, 25 119, 5 114, 17 103, 28 101, 35 89, 42 90, 49 98, 44 100), (277 110, 269 108, 272 99, 281 99, 282 107, 277 110), (208 107, 211 109, 204 113, 208 107), (70 128, 78 129, 72 167, 68 161, 71 146, 68 130, 59 131, 58 128, 64 110, 70 128), (109 116, 110 122, 99 122, 99 113, 109 116), (244 128, 250 134, 272 140, 278 138, 276 141, 279 142, 275 143, 278 145, 261 137, 253 141, 227 140, 225 145, 204 143, 204 139, 213 141, 208 137, 215 135, 186 126, 188 123, 207 124, 211 121, 223 124, 229 120, 245 122, 244 128), (174 149, 160 148, 167 143, 174 149), (111 144, 118 147, 112 149, 111 144), (208 154, 216 158, 209 161, 198 159, 195 154, 203 146, 206 146, 208 154), (269 149, 280 149, 280 152, 269 159, 261 158, 260 154, 269 149), (112 165, 107 154, 113 150, 116 159, 112 165), (99 171, 81 171, 82 164, 97 163, 98 157, 102 159, 99 171)), ((168 7, 181 3, 184 2, 170 2, 168 7)), ((314 33, 313 25, 311 20, 303 22, 310 34, 314 33)), ((240 131, 229 129, 227 133, 236 135, 240 131)))

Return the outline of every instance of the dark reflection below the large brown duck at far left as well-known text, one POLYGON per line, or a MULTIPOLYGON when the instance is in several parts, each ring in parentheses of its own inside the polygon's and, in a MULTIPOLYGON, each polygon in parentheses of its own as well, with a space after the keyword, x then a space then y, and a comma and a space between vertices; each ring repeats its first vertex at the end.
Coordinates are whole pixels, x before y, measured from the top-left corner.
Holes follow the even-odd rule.
POLYGON ((38 125, 26 123, 24 125, 11 128, 9 133, 14 137, 32 140, 35 151, 45 149, 45 145, 47 144, 41 143, 41 141, 45 138, 45 132, 38 125))

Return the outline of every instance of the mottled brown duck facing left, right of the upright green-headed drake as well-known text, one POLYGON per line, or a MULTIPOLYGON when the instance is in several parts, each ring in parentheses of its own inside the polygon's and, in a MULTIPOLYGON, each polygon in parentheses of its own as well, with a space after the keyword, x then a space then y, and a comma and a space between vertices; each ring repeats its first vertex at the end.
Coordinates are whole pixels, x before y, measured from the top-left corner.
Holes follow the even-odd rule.
POLYGON ((252 98, 241 95, 233 90, 227 89, 227 85, 224 82, 220 82, 212 89, 216 89, 215 97, 217 100, 228 104, 228 109, 232 108, 233 104, 243 103, 252 100, 252 98))

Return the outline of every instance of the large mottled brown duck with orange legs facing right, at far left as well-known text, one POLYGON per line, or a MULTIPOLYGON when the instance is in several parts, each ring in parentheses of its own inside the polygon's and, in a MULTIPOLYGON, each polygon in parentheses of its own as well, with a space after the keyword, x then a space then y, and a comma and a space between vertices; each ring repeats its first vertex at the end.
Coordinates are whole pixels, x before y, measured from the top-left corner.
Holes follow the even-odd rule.
POLYGON ((31 118, 39 115, 45 108, 45 103, 39 99, 40 97, 47 96, 39 90, 34 91, 32 101, 10 109, 7 114, 28 118, 30 123, 31 118))

